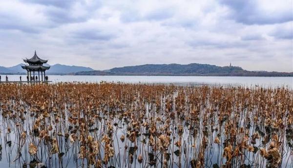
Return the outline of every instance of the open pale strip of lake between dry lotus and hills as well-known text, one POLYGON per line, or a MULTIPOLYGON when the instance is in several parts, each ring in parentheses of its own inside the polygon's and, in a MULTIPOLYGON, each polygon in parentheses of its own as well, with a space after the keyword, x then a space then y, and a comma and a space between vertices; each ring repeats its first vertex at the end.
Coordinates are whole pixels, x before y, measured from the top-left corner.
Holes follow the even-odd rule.
MULTIPOLYGON (((2 81, 6 75, 1 75, 2 81)), ((9 81, 19 81, 20 75, 7 75, 9 81)), ((293 88, 293 77, 219 77, 219 76, 73 76, 49 75, 49 81, 56 82, 123 82, 123 83, 159 83, 178 85, 244 85, 263 87, 289 86, 293 88)), ((22 81, 26 75, 21 75, 22 81)))

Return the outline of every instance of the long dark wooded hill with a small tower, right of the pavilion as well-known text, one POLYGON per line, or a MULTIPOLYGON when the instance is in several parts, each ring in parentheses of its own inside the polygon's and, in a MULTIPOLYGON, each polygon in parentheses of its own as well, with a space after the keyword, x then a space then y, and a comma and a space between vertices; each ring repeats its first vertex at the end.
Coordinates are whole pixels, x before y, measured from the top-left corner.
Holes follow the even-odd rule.
POLYGON ((247 71, 238 66, 210 64, 144 64, 106 71, 77 72, 75 75, 171 75, 171 76, 293 76, 293 72, 247 71))

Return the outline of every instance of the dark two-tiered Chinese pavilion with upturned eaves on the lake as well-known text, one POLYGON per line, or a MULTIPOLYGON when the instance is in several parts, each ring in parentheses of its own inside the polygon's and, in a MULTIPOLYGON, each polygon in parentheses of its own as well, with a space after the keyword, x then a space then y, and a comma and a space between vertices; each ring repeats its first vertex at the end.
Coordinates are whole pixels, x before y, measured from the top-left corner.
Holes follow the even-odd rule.
POLYGON ((23 59, 23 61, 25 63, 28 63, 28 65, 22 65, 22 69, 25 69, 27 71, 27 77, 28 77, 28 81, 35 81, 35 72, 38 71, 38 81, 41 81, 40 79, 40 72, 41 72, 41 76, 42 76, 42 81, 46 81, 46 75, 45 75, 45 71, 50 69, 50 66, 43 66, 43 63, 47 63, 48 60, 42 60, 41 58, 38 57, 36 51, 35 51, 35 55, 30 58, 30 59, 23 59), (33 72, 33 76, 32 76, 32 72, 33 72))

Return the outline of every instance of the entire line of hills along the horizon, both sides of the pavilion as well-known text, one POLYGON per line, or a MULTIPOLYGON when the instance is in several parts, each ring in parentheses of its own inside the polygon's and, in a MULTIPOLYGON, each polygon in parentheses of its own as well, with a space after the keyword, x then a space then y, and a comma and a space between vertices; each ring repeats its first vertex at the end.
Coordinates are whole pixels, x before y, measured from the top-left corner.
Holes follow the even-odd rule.
MULTIPOLYGON (((11 67, 0 66, 0 74, 26 74, 20 63, 11 67)), ((49 64, 46 64, 49 65, 49 64)), ((54 64, 48 75, 146 75, 146 76, 283 76, 293 77, 293 72, 248 71, 239 66, 217 66, 201 63, 143 64, 94 70, 90 67, 54 64)))

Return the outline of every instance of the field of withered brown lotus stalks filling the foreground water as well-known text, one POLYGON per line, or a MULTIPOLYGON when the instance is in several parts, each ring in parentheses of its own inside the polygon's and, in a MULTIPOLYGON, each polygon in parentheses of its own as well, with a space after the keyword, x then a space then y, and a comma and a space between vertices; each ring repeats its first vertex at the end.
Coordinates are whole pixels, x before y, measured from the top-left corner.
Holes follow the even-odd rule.
POLYGON ((0 167, 293 168, 293 90, 0 84, 0 167))

